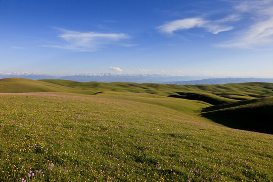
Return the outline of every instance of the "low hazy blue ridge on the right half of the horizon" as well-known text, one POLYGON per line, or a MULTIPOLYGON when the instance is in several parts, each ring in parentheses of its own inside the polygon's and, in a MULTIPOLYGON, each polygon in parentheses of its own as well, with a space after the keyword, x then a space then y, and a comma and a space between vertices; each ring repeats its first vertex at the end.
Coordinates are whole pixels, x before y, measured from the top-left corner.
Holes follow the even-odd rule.
POLYGON ((273 83, 273 78, 208 78, 191 81, 168 81, 163 84, 195 85, 195 84, 226 84, 226 83, 246 83, 246 82, 268 82, 273 83))

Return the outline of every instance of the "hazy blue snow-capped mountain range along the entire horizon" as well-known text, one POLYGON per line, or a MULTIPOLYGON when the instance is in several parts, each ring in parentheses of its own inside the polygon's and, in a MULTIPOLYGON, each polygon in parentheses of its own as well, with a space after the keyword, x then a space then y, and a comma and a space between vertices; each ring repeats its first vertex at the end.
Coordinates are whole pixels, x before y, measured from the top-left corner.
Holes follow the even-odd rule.
POLYGON ((225 84, 244 82, 269 82, 273 78, 208 78, 204 76, 172 76, 162 74, 111 74, 111 73, 85 73, 73 75, 47 75, 38 73, 0 73, 1 78, 28 78, 28 79, 65 79, 80 82, 135 82, 135 83, 163 83, 163 84, 225 84), (206 78, 206 79, 204 79, 206 78), (183 81, 180 81, 183 80, 183 81))

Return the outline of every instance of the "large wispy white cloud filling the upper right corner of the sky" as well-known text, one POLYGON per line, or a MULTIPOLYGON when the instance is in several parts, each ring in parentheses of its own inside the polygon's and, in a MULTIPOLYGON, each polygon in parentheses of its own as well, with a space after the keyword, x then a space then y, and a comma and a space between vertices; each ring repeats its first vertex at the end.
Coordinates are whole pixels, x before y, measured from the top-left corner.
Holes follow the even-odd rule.
POLYGON ((238 36, 218 46, 239 49, 273 48, 273 1, 243 1, 236 4, 234 9, 250 17, 252 23, 238 32, 238 36))

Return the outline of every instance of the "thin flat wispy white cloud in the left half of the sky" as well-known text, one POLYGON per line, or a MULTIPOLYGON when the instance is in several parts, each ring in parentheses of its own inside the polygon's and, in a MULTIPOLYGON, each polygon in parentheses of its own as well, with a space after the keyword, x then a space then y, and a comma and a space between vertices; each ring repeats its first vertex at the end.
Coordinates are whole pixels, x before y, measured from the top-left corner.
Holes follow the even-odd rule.
MULTIPOLYGON (((79 52, 94 52, 106 45, 117 44, 122 39, 128 39, 125 33, 99 33, 99 32, 79 32, 57 28, 62 32, 59 37, 65 42, 58 45, 43 45, 43 47, 52 47, 67 49, 79 52)), ((125 46, 122 43, 121 46, 125 46)), ((129 44, 126 44, 128 47, 129 44)))

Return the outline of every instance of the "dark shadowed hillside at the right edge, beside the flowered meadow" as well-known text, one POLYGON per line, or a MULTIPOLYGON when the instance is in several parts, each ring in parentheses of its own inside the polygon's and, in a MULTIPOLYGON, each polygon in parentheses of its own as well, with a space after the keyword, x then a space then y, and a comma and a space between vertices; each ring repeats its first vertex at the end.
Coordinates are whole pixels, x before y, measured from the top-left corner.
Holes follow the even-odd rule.
POLYGON ((202 115, 225 126, 273 134, 273 97, 208 107, 202 115))

